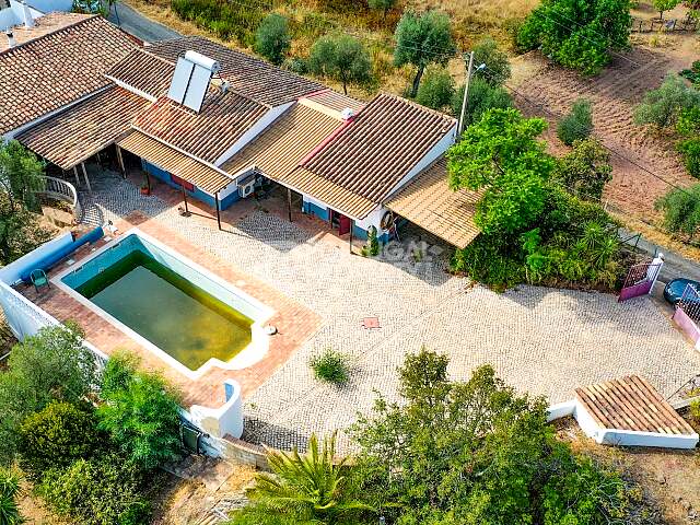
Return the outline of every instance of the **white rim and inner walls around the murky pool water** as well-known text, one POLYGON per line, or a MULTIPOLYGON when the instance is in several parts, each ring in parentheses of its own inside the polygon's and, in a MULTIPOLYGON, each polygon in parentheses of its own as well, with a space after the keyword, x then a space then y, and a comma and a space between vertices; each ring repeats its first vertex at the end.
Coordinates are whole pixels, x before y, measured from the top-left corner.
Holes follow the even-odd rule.
MULTIPOLYGON (((105 241, 106 241, 106 237, 105 237, 105 241)), ((183 277, 186 278, 186 276, 183 276, 183 277)), ((168 246, 164 245, 163 243, 152 237, 151 235, 142 232, 138 228, 132 228, 129 231, 125 232, 124 234, 118 235, 116 238, 113 238, 112 241, 106 242, 101 248, 96 249, 90 256, 82 259, 80 261, 80 265, 73 264, 67 267, 63 271, 59 272, 58 275, 51 278, 51 283, 54 283, 63 292, 66 292, 67 294, 72 296, 74 300, 83 304, 86 308, 92 310, 103 319, 117 326, 121 331, 124 331, 127 336, 131 337, 137 342, 139 342, 139 345, 141 345, 143 348, 151 350, 155 355, 158 355, 160 359, 165 361, 168 365, 173 366, 175 370, 186 375, 190 380, 197 380, 201 377, 206 372, 211 370, 211 368, 213 366, 225 369, 225 370, 246 369, 259 362, 269 350, 270 336, 267 336, 265 334, 265 326, 267 322, 275 314, 275 311, 272 308, 262 304, 260 301, 256 300, 255 298, 244 292, 243 290, 235 288, 231 283, 226 282, 224 279, 212 273, 211 271, 207 270, 206 268, 198 265, 197 262, 189 260, 186 257, 183 257, 182 254, 174 252, 168 246), (250 305, 250 307, 259 312, 259 314, 256 315, 256 317, 253 319, 254 323, 250 327, 253 331, 253 340, 250 341, 250 343, 246 348, 244 348, 241 352, 238 352, 229 362, 221 361, 217 358, 210 358, 205 364, 199 366, 197 370, 190 370, 187 366, 185 366, 183 363, 177 361, 177 359, 173 358, 167 352, 160 349, 156 345, 154 345, 153 342, 151 342, 150 340, 141 336, 138 331, 135 331, 128 325, 125 325, 124 323, 121 323, 120 320, 112 316, 108 312, 105 312, 103 308, 97 306, 90 299, 84 298, 74 289, 72 289, 71 287, 69 287, 63 282, 63 278, 66 276, 69 276, 70 273, 74 272, 77 269, 80 269, 81 266, 100 257, 102 254, 104 254, 108 249, 112 249, 118 244, 124 243, 129 236, 136 236, 139 240, 143 240, 147 243, 151 244, 153 247, 155 247, 158 250, 165 253, 171 257, 176 258, 179 262, 184 264, 186 267, 188 267, 192 271, 202 275, 206 279, 211 280, 215 284, 219 284, 220 287, 224 288, 226 291, 240 298, 242 301, 250 305)))

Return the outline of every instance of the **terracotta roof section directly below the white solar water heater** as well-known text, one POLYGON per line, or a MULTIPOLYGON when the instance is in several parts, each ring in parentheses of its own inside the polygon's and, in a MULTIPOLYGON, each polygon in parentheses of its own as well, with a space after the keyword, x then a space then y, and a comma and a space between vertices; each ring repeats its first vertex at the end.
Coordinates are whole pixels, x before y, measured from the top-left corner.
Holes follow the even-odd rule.
POLYGON ((163 96, 137 116, 133 127, 213 164, 268 110, 268 106, 212 85, 199 113, 163 96))

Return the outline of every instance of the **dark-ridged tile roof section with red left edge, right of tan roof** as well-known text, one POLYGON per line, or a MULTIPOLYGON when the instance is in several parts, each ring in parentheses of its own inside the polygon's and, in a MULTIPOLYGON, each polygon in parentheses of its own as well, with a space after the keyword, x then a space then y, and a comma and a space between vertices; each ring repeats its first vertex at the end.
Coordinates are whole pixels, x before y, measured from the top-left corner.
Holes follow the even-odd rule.
POLYGON ((439 112, 380 94, 302 165, 382 202, 455 124, 439 112))

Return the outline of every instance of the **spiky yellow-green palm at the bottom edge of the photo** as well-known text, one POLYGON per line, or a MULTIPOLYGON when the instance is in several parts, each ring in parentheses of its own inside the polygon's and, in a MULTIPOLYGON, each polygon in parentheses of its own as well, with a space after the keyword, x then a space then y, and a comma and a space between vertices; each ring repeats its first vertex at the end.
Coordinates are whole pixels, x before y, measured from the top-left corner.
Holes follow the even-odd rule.
POLYGON ((262 472, 248 490, 252 505, 233 515, 232 525, 248 523, 357 524, 372 509, 350 494, 347 458, 336 459, 336 434, 312 435, 308 452, 300 455, 270 451, 271 474, 262 472))

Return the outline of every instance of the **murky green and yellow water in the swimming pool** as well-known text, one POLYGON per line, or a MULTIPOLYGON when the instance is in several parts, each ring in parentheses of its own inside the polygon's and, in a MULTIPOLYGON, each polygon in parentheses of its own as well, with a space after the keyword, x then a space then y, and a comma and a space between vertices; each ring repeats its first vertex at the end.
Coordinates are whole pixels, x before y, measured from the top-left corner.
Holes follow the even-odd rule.
POLYGON ((77 291, 190 370, 250 342, 252 319, 140 250, 77 291))

